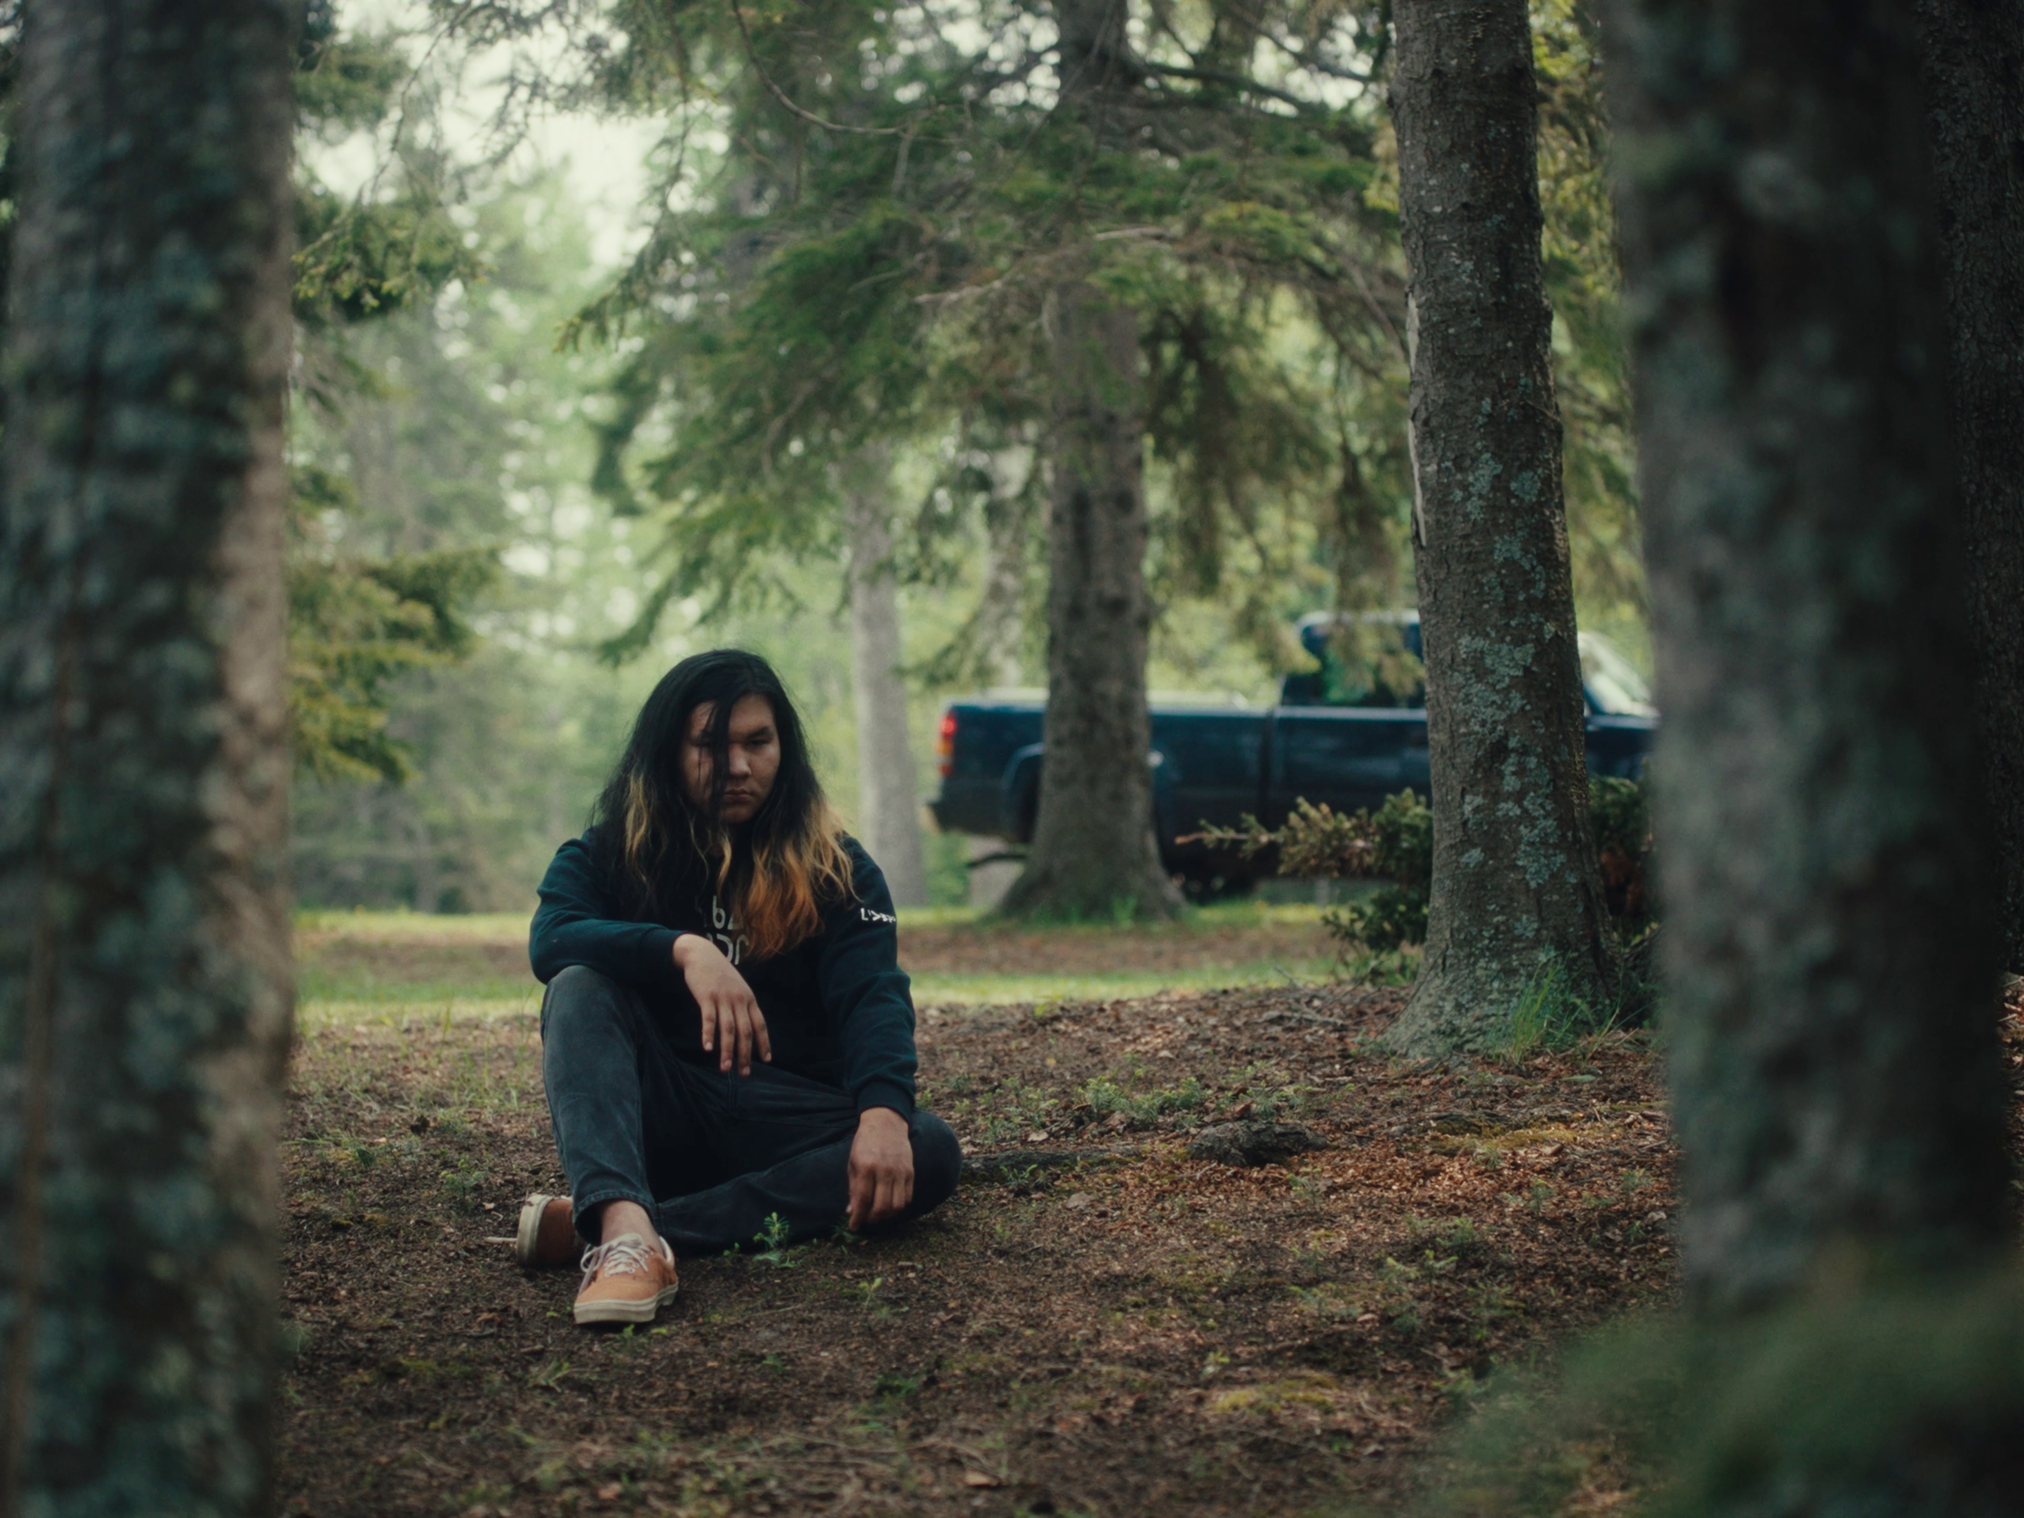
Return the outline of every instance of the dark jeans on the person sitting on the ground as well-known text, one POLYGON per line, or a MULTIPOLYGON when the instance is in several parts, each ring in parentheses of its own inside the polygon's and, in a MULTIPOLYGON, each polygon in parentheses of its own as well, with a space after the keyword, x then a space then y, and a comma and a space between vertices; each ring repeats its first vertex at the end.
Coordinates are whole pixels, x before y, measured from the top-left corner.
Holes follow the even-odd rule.
MULTIPOLYGON (((836 1087, 753 1061, 751 1075, 682 1059, 666 1010, 573 965, 540 1002, 540 1075, 577 1216, 638 1202, 682 1255, 747 1245, 779 1214, 787 1239, 844 1220, 858 1111, 836 1087)), ((911 1220, 947 1200, 955 1133, 917 1111, 911 1220)))

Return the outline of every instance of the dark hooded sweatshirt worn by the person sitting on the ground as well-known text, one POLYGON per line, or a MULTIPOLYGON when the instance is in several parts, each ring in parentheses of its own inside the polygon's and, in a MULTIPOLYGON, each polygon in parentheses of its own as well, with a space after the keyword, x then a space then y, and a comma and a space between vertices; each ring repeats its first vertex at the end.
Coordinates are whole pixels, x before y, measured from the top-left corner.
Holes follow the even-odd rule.
POLYGON ((710 939, 753 988, 773 1042, 773 1065, 848 1091, 858 1111, 913 1111, 913 996, 899 967, 899 919, 884 874, 846 838, 854 893, 824 913, 822 931, 771 959, 753 959, 731 913, 696 870, 660 891, 660 917, 627 917, 597 864, 593 834, 555 850, 528 935, 534 976, 546 984, 583 965, 642 992, 670 1020, 676 1048, 702 1052, 702 1014, 674 963, 682 933, 710 939), (694 884, 700 880, 702 884, 694 884))

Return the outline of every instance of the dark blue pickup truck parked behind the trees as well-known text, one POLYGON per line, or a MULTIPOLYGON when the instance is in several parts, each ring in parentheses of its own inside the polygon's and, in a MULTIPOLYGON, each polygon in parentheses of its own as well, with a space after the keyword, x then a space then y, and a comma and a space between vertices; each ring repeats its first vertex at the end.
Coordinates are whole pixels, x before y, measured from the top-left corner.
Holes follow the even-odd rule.
MULTIPOLYGON (((1635 779, 1658 710, 1613 644, 1579 638, 1589 773, 1635 779)), ((1237 826, 1251 814, 1277 828, 1295 797, 1354 812, 1407 787, 1429 791, 1419 613, 1318 613, 1301 619, 1299 642, 1318 668, 1287 674, 1275 706, 1154 700, 1154 836, 1168 870, 1198 895, 1243 891, 1269 870, 1265 860, 1180 842, 1204 824, 1237 826)), ((1044 710, 1032 694, 943 708, 941 791, 929 802, 943 832, 1032 842, 1044 710)))

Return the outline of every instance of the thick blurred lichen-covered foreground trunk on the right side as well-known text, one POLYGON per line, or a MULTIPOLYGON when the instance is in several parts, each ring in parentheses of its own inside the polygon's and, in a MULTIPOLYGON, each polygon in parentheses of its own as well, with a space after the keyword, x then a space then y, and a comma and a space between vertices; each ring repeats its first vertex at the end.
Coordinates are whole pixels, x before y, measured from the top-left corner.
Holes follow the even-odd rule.
MULTIPOLYGON (((1617 0, 1692 1297, 2006 1229, 1911 0, 1617 0)), ((2006 148, 2008 152, 2008 148, 2006 148)))

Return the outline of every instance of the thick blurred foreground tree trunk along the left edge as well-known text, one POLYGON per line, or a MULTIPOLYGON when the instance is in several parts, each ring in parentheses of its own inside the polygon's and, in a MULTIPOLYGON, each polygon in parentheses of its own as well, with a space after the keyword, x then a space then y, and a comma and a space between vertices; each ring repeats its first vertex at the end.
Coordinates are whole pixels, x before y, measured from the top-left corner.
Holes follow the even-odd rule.
POLYGON ((0 504, 0 1512, 269 1504, 285 0, 26 24, 0 504))

